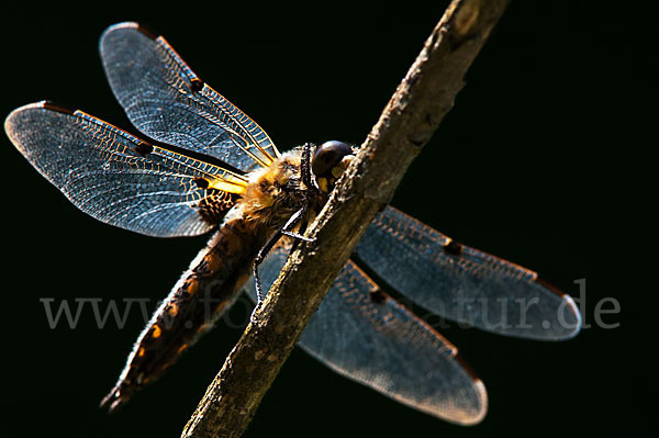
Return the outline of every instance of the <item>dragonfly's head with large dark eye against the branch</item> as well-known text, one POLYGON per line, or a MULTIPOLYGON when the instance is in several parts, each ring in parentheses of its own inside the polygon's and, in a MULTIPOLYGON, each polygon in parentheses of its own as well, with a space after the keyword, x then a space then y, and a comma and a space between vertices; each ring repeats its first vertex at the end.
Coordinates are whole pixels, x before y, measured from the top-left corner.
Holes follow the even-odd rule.
POLYGON ((325 193, 331 192, 353 158, 353 148, 346 143, 332 141, 319 146, 311 160, 319 188, 325 193))

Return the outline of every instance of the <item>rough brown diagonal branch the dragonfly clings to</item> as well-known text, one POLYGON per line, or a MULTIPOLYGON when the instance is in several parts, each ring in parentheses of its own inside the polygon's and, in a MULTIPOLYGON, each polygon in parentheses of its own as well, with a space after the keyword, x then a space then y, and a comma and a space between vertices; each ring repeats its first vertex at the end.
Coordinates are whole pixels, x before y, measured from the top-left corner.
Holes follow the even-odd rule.
POLYGON ((182 437, 238 437, 353 248, 451 109, 507 0, 454 0, 208 388, 182 437))

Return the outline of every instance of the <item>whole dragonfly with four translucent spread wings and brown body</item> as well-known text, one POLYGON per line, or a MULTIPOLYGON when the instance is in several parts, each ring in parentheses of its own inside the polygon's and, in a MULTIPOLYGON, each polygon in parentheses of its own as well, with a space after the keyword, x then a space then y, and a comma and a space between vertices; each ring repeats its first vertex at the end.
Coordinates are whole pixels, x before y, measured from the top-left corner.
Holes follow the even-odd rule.
MULTIPOLYGON (((100 53, 114 96, 143 137, 42 101, 9 114, 9 138, 74 205, 103 223, 157 237, 212 232, 101 402, 114 411, 156 381, 243 291, 258 306, 356 148, 327 142, 280 153, 161 35, 137 23, 105 30, 100 53)), ((346 378, 460 425, 484 417, 485 386, 401 297, 505 336, 560 340, 581 328, 573 300, 536 272, 384 206, 298 345, 346 378)))

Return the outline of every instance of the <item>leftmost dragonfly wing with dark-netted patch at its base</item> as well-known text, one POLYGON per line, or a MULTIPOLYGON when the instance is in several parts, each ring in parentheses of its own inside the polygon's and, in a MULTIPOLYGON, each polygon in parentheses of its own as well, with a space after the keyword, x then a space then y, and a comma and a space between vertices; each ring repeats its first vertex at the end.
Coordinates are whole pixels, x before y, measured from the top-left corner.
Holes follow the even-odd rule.
POLYGON ((14 146, 85 213, 150 236, 191 236, 214 224, 198 205, 215 188, 245 180, 222 168, 150 145, 82 111, 48 102, 14 110, 4 122, 14 146))

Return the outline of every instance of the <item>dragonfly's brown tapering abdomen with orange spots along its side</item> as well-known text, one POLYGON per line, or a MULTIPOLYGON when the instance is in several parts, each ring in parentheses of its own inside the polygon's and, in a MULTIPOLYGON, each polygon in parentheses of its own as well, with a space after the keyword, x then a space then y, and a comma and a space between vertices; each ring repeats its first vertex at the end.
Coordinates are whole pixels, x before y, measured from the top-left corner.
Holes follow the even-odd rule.
POLYGON ((250 221, 237 218, 222 225, 139 335, 116 385, 101 406, 113 411, 125 403, 212 327, 238 296, 267 237, 250 221))

